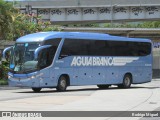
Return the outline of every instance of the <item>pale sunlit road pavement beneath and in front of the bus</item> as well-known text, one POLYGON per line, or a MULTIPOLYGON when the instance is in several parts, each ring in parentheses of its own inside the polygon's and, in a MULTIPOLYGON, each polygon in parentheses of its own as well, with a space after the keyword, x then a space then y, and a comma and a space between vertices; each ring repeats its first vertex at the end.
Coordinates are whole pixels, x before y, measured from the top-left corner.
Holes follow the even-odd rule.
MULTIPOLYGON (((68 87, 66 92, 42 89, 40 93, 34 93, 29 88, 1 86, 0 111, 160 111, 160 79, 132 85, 130 89, 111 86, 109 89, 100 90, 97 86, 72 86, 68 87)), ((87 118, 89 119, 160 120, 141 117, 87 118)))

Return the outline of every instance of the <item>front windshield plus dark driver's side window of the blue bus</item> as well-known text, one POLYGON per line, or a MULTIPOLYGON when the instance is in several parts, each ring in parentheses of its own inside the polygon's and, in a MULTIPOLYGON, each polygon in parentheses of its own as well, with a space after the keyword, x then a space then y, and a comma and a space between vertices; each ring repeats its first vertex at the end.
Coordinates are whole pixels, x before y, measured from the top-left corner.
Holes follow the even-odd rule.
POLYGON ((60 38, 55 38, 46 40, 43 43, 16 43, 13 50, 11 50, 10 72, 27 74, 50 66, 60 40, 60 38), (51 45, 51 47, 40 51, 38 59, 35 59, 34 52, 42 44, 51 45))

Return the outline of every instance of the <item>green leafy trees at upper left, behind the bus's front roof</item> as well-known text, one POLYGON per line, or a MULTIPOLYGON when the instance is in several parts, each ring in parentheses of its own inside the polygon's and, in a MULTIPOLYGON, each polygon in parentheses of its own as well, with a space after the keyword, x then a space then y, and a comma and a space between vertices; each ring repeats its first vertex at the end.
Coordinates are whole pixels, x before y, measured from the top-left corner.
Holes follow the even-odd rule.
POLYGON ((60 31, 58 26, 51 26, 49 21, 42 21, 40 16, 21 14, 13 8, 12 2, 0 0, 0 37, 6 40, 40 31, 60 31))

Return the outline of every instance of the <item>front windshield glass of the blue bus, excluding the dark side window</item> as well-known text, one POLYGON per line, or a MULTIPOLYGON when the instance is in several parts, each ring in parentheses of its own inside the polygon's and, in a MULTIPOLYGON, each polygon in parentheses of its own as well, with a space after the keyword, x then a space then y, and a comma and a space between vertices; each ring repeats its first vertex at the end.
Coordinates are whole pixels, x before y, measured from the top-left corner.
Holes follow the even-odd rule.
POLYGON ((37 69, 38 60, 34 60, 34 51, 40 43, 17 43, 11 52, 10 71, 26 73, 37 69))

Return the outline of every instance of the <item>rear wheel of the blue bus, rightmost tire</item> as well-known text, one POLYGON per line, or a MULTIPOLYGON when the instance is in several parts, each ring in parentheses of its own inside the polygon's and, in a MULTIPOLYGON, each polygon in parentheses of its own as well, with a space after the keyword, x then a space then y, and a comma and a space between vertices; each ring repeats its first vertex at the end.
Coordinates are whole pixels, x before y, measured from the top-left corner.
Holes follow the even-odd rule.
POLYGON ((123 83, 118 85, 119 88, 130 88, 132 84, 132 77, 129 74, 126 74, 123 78, 123 83))

